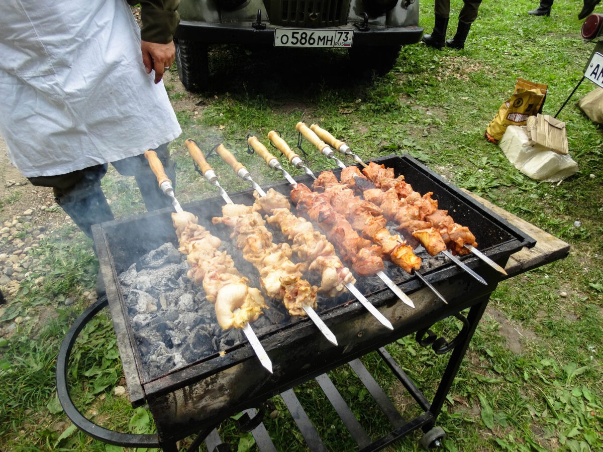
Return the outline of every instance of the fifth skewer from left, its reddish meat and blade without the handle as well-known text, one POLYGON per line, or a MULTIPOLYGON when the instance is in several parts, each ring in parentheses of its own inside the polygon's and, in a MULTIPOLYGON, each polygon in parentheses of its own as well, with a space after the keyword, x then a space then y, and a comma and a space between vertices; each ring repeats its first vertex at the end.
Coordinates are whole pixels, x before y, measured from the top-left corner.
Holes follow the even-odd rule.
MULTIPOLYGON (((356 168, 355 166, 351 168, 356 168)), ((346 168, 349 169, 349 168, 346 168)), ((346 170, 344 170, 346 171, 346 170)), ((342 172, 343 174, 343 172, 342 172)), ((384 213, 373 203, 360 199, 352 189, 340 183, 332 171, 323 171, 314 181, 312 189, 324 191, 331 196, 331 204, 342 215, 348 216, 350 224, 373 242, 382 245, 392 262, 402 267, 411 275, 416 275, 440 300, 448 304, 446 298, 426 280, 418 271, 421 265, 419 257, 415 256, 412 248, 406 245, 406 240, 399 235, 392 236, 385 228, 384 213)))

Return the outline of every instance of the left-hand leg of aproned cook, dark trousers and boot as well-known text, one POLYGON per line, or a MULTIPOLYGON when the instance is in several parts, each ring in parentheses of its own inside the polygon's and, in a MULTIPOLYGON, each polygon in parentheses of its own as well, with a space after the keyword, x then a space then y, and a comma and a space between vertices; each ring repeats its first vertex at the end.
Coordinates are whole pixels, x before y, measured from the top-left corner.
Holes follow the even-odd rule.
POLYGON ((101 189, 107 165, 95 165, 68 174, 28 178, 35 186, 52 187, 54 200, 88 237, 92 225, 113 220, 101 189))

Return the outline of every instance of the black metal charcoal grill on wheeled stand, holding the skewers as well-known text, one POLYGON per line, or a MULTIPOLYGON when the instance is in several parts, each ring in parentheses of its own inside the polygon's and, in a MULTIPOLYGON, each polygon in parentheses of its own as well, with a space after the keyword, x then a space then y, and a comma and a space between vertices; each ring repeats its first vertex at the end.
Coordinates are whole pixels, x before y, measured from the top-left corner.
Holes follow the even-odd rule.
MULTIPOLYGON (((459 190, 409 155, 399 157, 390 155, 374 160, 387 167, 394 168, 396 175, 404 174, 406 181, 420 193, 433 192, 441 209, 449 210, 456 222, 468 225, 476 236, 479 249, 498 263, 505 266, 509 257, 523 247, 531 248, 536 240, 516 228, 506 219, 486 209, 467 193, 459 190)), ((340 170, 333 170, 336 174, 340 170)), ((312 180, 304 175, 296 180, 311 185, 312 180)), ((288 194, 290 186, 273 183, 265 189, 288 194)), ((253 190, 242 190, 230 195, 235 203, 250 205, 253 203, 253 190)), ((213 216, 221 216, 221 198, 209 198, 183 206, 188 212, 199 217, 199 223, 223 239, 229 254, 238 254, 229 239, 230 231, 211 225, 213 216)), ((210 433, 219 422, 242 410, 253 409, 277 394, 283 395, 289 410, 297 411, 301 432, 312 450, 323 450, 317 433, 311 424, 304 422, 299 415, 300 406, 293 392, 297 385, 317 378, 326 392, 344 424, 359 445, 360 450, 379 450, 400 436, 423 428, 426 445, 435 444, 441 438, 439 430, 431 430, 443 406, 453 378, 467 350, 473 332, 484 313, 490 294, 496 289, 502 275, 485 265, 477 257, 468 255, 461 259, 467 266, 478 272, 487 281, 487 285, 478 283, 466 272, 446 260, 437 260, 428 254, 421 254, 425 266, 423 276, 444 295, 448 304, 435 297, 417 277, 406 274, 394 266, 387 271, 394 282, 414 301, 415 309, 406 306, 387 289, 377 278, 358 278, 356 286, 365 297, 390 319, 394 329, 384 328, 351 295, 342 295, 335 300, 318 297, 317 312, 329 328, 335 333, 339 346, 328 342, 323 334, 307 318, 285 319, 278 324, 262 328, 257 335, 273 362, 273 374, 262 367, 251 346, 239 341, 224 350, 226 353, 213 353, 200 359, 169 369, 163 374, 150 374, 145 369, 144 359, 140 356, 139 338, 132 326, 131 313, 124 297, 124 287, 119 275, 133 265, 139 265, 140 259, 165 243, 177 247, 177 238, 171 221, 171 212, 167 209, 144 213, 130 218, 106 222, 93 227, 94 242, 99 265, 106 282, 107 300, 118 340, 119 353, 127 381, 128 392, 133 406, 148 404, 157 426, 157 435, 128 435, 110 432, 87 421, 71 403, 66 381, 66 362, 71 347, 83 325, 102 309, 103 300, 84 313, 66 337, 57 364, 57 388, 59 398, 68 416, 86 433, 102 441, 118 445, 138 447, 163 447, 164 450, 177 450, 176 442, 195 433, 199 438, 207 437, 207 444, 219 443, 215 432, 210 433), (427 268, 427 269, 425 269, 427 268), (461 312, 469 308, 469 313, 461 312), (458 336, 452 339, 436 337, 429 329, 435 323, 454 316, 463 322, 458 336), (384 346, 400 337, 415 334, 419 344, 431 345, 435 353, 452 351, 443 378, 430 403, 426 397, 400 369, 395 360, 385 351, 384 346), (393 409, 393 404, 380 390, 368 372, 365 371, 359 357, 370 351, 377 351, 392 372, 408 389, 424 413, 411 421, 404 421, 393 409), (356 374, 373 395, 379 406, 393 425, 392 432, 379 439, 369 439, 359 433, 358 421, 347 406, 342 405, 336 390, 328 381, 325 372, 350 363, 356 374), (364 370, 363 370, 364 369, 364 370), (326 378, 326 380, 325 380, 326 378), (209 435, 209 436, 208 436, 209 435)), ((275 233, 275 237, 277 234, 275 233)), ((559 256, 561 257, 561 256, 559 256)), ((555 257, 558 259, 558 257, 555 257)), ((541 264, 546 263, 542 262, 541 264)), ((253 268, 244 261, 235 265, 253 282, 253 268)), ((258 286, 259 287, 259 286, 258 286)), ((303 412, 303 410, 302 410, 303 412)), ((256 416, 254 432, 261 432, 261 416, 256 416)), ((443 433, 443 432, 441 432, 443 433)), ((255 435, 255 433, 254 433, 255 435)), ((262 449, 273 450, 270 439, 257 433, 256 442, 262 449)), ((213 448, 209 448, 213 450, 213 448)))

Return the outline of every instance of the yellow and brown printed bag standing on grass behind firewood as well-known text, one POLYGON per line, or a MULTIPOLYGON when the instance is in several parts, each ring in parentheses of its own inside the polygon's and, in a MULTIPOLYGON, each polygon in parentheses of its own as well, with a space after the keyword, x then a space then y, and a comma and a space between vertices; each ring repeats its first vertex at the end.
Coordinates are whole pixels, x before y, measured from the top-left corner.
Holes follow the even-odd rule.
POLYGON ((529 116, 541 111, 547 90, 548 85, 518 77, 513 95, 500 105, 498 113, 488 124, 484 137, 491 143, 498 143, 507 126, 525 125, 529 116))

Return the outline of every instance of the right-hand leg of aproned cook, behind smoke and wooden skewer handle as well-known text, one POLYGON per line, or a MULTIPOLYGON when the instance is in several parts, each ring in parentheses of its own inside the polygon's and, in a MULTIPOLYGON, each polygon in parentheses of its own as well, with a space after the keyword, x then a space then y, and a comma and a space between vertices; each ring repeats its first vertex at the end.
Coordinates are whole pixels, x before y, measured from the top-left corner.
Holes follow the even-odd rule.
MULTIPOLYGON (((157 157, 159 157, 159 160, 161 160, 163 169, 165 169, 165 174, 167 174, 169 180, 172 181, 172 187, 174 187, 175 191, 176 165, 169 157, 168 143, 157 146, 154 151, 157 152, 157 157)), ((149 166, 144 154, 134 155, 133 157, 128 157, 127 159, 118 160, 117 162, 112 162, 111 165, 113 165, 121 175, 134 176, 136 179, 136 184, 140 190, 142 200, 144 201, 145 207, 149 212, 151 210, 163 209, 165 207, 172 206, 171 198, 166 196, 165 193, 163 193, 159 188, 157 178, 153 174, 153 171, 151 171, 151 167, 149 166)))

